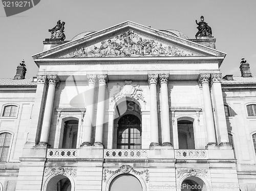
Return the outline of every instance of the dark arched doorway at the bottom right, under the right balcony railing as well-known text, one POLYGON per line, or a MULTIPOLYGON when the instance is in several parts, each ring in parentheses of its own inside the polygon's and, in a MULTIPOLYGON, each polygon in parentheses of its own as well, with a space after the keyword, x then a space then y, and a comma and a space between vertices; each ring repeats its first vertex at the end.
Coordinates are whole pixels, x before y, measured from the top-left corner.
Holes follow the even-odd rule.
POLYGON ((207 191, 207 186, 202 179, 190 176, 183 180, 181 191, 207 191))

